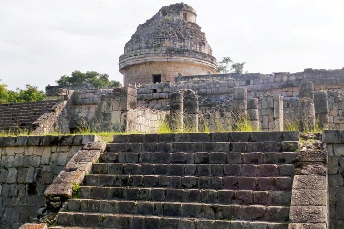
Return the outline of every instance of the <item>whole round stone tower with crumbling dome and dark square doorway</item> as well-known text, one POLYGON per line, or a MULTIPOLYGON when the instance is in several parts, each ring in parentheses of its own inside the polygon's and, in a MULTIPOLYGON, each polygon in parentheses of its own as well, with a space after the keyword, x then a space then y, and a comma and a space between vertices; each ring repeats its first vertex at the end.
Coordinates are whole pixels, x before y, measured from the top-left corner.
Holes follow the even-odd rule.
POLYGON ((216 73, 216 59, 196 11, 187 4, 162 7, 137 27, 119 57, 124 85, 174 82, 177 76, 216 73))

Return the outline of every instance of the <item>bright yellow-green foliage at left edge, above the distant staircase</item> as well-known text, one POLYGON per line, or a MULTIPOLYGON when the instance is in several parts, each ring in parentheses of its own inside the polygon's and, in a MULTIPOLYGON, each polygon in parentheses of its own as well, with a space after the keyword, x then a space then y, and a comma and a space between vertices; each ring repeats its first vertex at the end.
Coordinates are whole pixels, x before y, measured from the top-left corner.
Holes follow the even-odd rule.
MULTIPOLYGON (((0 79, 1 82, 1 79, 0 79)), ((0 84, 0 103, 34 102, 45 99, 45 93, 38 87, 25 84, 25 89, 9 90, 6 84, 0 84)))

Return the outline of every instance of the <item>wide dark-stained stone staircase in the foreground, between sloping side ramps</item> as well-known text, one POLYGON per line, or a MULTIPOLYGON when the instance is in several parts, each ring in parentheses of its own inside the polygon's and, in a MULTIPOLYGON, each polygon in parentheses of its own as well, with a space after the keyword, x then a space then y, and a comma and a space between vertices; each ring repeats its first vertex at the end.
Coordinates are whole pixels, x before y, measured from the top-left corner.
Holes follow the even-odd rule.
POLYGON ((52 228, 286 229, 298 132, 117 135, 52 228))

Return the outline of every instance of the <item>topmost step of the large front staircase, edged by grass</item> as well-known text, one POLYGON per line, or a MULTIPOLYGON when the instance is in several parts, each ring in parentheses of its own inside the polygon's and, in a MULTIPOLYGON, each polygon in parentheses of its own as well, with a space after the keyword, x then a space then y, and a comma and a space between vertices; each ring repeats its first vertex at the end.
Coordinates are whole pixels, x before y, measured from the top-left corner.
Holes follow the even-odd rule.
POLYGON ((115 135, 114 143, 128 142, 251 142, 298 141, 298 131, 256 131, 229 133, 168 133, 115 135))

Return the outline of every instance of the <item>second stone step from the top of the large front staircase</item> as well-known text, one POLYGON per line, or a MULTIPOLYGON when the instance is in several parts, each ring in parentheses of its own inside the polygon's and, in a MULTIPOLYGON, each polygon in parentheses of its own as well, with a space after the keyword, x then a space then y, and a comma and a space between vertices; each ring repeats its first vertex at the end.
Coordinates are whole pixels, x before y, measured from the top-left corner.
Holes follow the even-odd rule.
POLYGON ((107 152, 288 152, 299 141, 109 143, 107 152))

